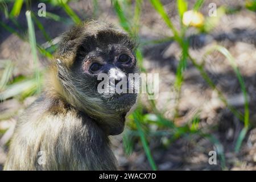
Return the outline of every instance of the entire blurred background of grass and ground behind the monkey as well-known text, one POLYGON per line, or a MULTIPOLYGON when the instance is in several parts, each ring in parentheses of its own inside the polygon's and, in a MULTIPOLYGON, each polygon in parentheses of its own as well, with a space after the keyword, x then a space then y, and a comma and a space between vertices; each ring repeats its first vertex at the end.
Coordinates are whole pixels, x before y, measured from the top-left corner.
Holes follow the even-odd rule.
POLYGON ((159 97, 141 94, 111 137, 119 169, 256 170, 256 1, 0 0, 0 10, 0 169, 60 35, 99 19, 138 39, 139 68, 159 73, 159 97))

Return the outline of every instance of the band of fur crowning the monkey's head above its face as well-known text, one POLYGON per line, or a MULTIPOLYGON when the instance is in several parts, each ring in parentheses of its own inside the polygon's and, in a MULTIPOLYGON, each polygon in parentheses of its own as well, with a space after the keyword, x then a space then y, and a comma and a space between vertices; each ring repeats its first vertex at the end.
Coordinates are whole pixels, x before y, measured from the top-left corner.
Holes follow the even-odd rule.
POLYGON ((96 46, 101 46, 102 43, 120 43, 132 51, 137 47, 134 39, 113 24, 92 20, 81 23, 62 35, 56 57, 60 59, 68 57, 64 62, 67 67, 70 67, 80 51, 89 52, 96 46))

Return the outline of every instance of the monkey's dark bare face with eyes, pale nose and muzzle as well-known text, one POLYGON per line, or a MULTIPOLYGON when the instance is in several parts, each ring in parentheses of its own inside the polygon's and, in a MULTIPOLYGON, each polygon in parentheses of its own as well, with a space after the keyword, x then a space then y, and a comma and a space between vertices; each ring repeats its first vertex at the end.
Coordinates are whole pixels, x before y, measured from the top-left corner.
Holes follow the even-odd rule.
MULTIPOLYGON (((137 99, 136 82, 129 76, 137 73, 133 52, 122 44, 95 47, 77 61, 80 82, 85 81, 85 93, 100 98, 106 109, 126 114, 137 99), (93 94, 92 94, 93 93, 93 94)), ((82 88, 80 88, 82 89, 82 88)))

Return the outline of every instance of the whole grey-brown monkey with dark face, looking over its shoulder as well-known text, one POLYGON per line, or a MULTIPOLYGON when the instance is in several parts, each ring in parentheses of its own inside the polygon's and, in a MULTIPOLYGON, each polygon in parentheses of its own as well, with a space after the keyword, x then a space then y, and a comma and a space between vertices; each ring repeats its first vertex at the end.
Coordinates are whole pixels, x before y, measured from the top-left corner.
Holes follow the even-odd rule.
POLYGON ((135 38, 106 22, 64 32, 42 95, 16 123, 4 170, 117 170, 109 135, 122 133, 138 93, 99 93, 97 77, 116 85, 138 73, 136 48, 135 38))

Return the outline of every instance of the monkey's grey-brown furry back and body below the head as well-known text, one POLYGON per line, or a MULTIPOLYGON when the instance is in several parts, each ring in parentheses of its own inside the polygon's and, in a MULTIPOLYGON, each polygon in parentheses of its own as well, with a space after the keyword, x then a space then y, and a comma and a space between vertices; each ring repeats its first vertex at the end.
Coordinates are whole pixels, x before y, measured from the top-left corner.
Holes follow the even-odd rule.
POLYGON ((87 115, 45 96, 19 118, 5 170, 113 170, 108 137, 87 115))

